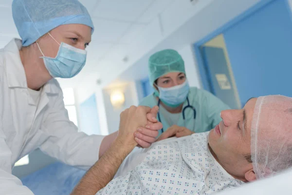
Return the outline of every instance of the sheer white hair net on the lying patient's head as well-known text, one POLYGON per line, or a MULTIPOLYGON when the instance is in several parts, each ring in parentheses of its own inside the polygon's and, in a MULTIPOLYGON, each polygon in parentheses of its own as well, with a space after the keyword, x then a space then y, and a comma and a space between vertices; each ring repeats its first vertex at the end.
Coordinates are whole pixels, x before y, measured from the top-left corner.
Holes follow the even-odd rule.
POLYGON ((257 98, 251 127, 251 155, 256 178, 292 167, 292 98, 257 98))

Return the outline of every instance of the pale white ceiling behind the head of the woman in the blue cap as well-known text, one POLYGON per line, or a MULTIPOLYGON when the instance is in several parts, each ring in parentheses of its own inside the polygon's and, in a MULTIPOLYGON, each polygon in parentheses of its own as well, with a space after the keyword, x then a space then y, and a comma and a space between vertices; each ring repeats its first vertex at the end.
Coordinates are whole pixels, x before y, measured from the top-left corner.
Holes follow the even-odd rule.
MULTIPOLYGON (((98 79, 117 59, 127 55, 128 48, 146 26, 174 0, 79 0, 91 14, 95 31, 88 47, 87 64, 79 75, 59 79, 62 87, 74 87, 89 75, 98 79)), ((12 0, 0 0, 0 48, 18 36, 11 11, 12 0)))

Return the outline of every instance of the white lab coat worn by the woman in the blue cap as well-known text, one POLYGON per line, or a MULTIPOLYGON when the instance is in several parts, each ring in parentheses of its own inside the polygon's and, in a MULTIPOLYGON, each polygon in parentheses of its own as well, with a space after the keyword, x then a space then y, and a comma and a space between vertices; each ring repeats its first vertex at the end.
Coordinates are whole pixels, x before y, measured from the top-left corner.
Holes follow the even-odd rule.
POLYGON ((21 41, 13 39, 0 49, 0 195, 33 195, 11 174, 14 163, 22 156, 40 148, 49 156, 86 170, 98 160, 103 139, 77 133, 55 79, 43 86, 28 131, 26 112, 34 101, 28 93, 20 47, 21 41))

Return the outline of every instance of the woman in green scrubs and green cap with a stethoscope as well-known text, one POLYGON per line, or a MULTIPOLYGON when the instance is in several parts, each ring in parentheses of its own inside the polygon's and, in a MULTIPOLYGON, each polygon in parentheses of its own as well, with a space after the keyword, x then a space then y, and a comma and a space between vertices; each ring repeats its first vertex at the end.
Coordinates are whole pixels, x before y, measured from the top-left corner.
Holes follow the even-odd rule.
MULTIPOLYGON (((140 105, 159 106, 157 118, 163 124, 159 134, 167 131, 163 138, 209 131, 221 121, 220 112, 229 109, 211 93, 189 86, 184 61, 175 50, 153 54, 148 61, 148 73, 155 92, 142 99, 140 105)), ((189 73, 188 77, 194 76, 189 73)), ((140 133, 137 136, 144 137, 140 133)))

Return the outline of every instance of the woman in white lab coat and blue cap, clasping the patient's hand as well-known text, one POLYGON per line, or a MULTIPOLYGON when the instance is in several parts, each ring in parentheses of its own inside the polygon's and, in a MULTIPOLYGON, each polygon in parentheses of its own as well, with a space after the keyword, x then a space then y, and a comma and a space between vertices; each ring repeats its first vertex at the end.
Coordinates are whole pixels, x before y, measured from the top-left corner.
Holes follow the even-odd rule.
MULTIPOLYGON (((86 62, 93 24, 79 1, 14 0, 12 13, 21 40, 12 39, 0 49, 0 195, 33 195, 11 172, 18 159, 37 148, 87 170, 112 143, 123 150, 121 137, 134 137, 138 127, 147 129, 143 138, 135 138, 137 144, 149 147, 155 141, 162 128, 155 118, 158 107, 131 107, 119 132, 106 137, 77 133, 69 120, 55 78, 74 77, 86 62)), ((97 176, 114 169, 100 169, 97 176)))

